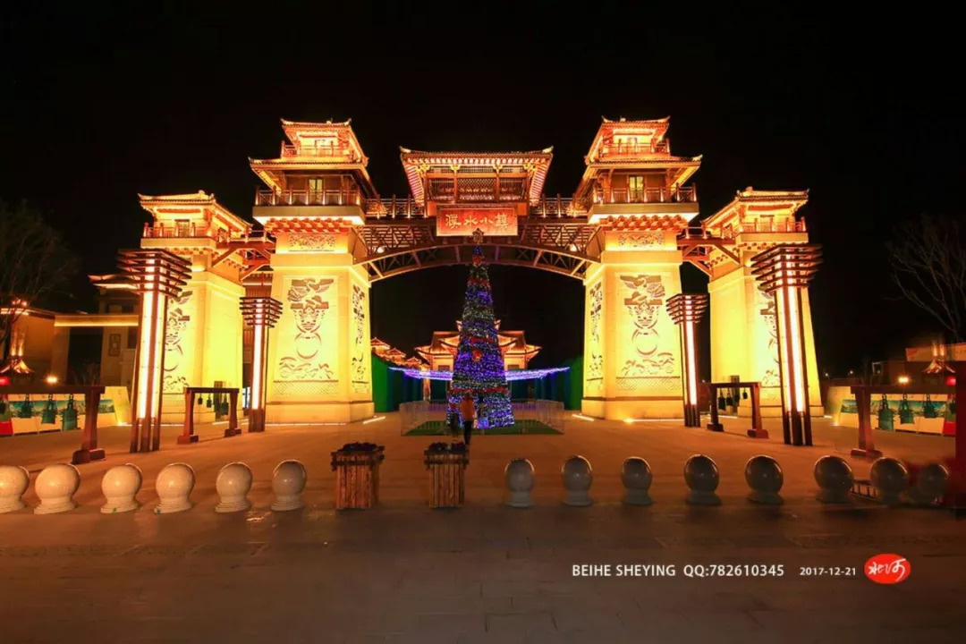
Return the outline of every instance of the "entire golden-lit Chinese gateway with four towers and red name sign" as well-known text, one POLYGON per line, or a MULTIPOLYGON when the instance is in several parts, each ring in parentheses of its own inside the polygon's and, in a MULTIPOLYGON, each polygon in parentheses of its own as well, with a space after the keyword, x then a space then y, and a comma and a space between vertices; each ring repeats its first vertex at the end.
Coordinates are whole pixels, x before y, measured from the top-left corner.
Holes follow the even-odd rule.
POLYGON ((760 382, 766 416, 781 415, 783 405, 806 415, 820 408, 804 284, 789 299, 790 287, 764 285, 753 267, 762 251, 808 244, 798 214, 807 193, 747 188, 693 225, 701 157, 671 154, 668 119, 605 119, 568 198, 543 193, 548 148, 402 149, 411 194, 386 199, 350 122, 282 127, 288 142, 278 156, 250 159, 264 183, 252 212, 257 229, 204 192, 140 197, 154 218, 142 248, 190 265, 180 292, 151 295, 165 321, 163 343, 141 342, 138 355, 138 386, 160 383, 166 422, 184 416, 185 386, 239 387, 252 381, 253 363, 269 425, 372 416, 369 285, 469 262, 477 229, 489 262, 582 280, 584 414, 683 417, 682 359, 693 355, 694 339, 684 340, 668 300, 681 293, 684 262, 710 278, 712 379, 760 382), (281 303, 258 351, 252 328, 241 332, 242 297, 281 303), (792 301, 799 304, 788 316, 792 301))

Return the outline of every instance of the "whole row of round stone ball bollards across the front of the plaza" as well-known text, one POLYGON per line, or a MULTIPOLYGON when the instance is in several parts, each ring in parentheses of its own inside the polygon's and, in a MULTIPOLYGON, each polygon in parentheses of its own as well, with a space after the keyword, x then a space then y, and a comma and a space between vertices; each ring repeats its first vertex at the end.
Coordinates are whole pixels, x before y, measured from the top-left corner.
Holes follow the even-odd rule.
MULTIPOLYGON (((818 486, 816 498, 821 503, 849 503, 849 492, 855 484, 852 468, 838 456, 823 456, 815 462, 813 475, 818 486)), ((590 488, 593 469, 582 456, 566 459, 560 467, 560 477, 565 491, 563 503, 573 507, 593 504, 590 488)), ((651 466, 639 457, 623 462, 620 469, 624 485, 624 503, 646 506, 653 503, 649 490, 654 479, 651 466)), ((303 507, 301 493, 305 490, 308 473, 298 461, 278 463, 272 472, 271 490, 274 499, 271 510, 289 512, 303 507)), ((903 494, 920 505, 935 505, 943 497, 950 484, 949 468, 943 463, 925 465, 910 486, 908 467, 896 459, 882 457, 872 463, 870 484, 876 490, 876 499, 890 506, 899 505, 903 494)), ((718 465, 707 456, 696 454, 684 465, 684 480, 688 487, 686 501, 692 505, 721 505, 715 493, 720 483, 718 465)), ((504 481, 509 491, 506 505, 512 508, 533 506, 533 463, 526 459, 514 459, 506 464, 504 481)), ((754 456, 745 464, 745 481, 750 488, 748 499, 754 503, 780 505, 784 483, 781 465, 772 457, 754 456)), ((137 493, 141 490, 141 470, 131 463, 116 465, 104 473, 100 482, 105 503, 100 507, 103 514, 119 514, 137 510, 141 504, 137 493)), ((171 514, 190 510, 195 474, 190 465, 174 462, 165 465, 157 474, 155 490, 158 503, 155 514, 171 514)), ((23 495, 30 485, 30 473, 17 465, 0 465, 0 514, 25 509, 23 495)), ((244 512, 252 507, 248 499, 251 491, 251 469, 243 462, 231 462, 221 468, 215 480, 218 494, 217 513, 244 512)), ((77 507, 74 493, 80 487, 80 473, 67 463, 48 465, 37 476, 34 490, 40 504, 34 514, 49 515, 68 512, 77 507)))

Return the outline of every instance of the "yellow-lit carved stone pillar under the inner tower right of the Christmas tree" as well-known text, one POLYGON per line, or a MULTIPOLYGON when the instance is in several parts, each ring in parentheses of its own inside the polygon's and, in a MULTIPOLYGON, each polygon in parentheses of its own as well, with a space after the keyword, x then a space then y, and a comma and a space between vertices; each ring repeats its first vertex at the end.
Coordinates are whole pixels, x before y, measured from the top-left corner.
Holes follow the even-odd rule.
POLYGON ((582 413, 680 418, 681 347, 666 308, 681 292, 674 231, 608 231, 585 288, 582 413))

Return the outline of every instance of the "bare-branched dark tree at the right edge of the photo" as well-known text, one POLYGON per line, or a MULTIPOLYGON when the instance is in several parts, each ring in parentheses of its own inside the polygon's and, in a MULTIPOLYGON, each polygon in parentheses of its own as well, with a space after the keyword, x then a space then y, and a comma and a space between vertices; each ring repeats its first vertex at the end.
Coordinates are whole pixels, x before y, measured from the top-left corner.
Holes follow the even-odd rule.
POLYGON ((886 244, 899 292, 942 324, 954 342, 966 338, 966 243, 951 218, 923 215, 886 244))

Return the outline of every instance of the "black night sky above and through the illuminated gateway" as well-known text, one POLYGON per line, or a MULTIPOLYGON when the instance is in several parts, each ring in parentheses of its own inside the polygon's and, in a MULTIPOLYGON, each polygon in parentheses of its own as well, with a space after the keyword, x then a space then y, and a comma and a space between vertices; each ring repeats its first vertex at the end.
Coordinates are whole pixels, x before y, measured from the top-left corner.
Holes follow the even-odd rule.
MULTIPOLYGON (((546 189, 568 195, 601 115, 670 115, 674 152, 704 154, 702 216, 748 185, 810 189, 803 212, 825 248, 811 288, 823 371, 858 368, 933 326, 891 299, 883 247, 904 218, 961 212, 961 39, 924 6, 853 18, 608 2, 580 13, 480 3, 468 14, 453 3, 435 15, 456 22, 437 26, 423 4, 417 14, 40 4, 2 18, 0 197, 29 199, 69 230, 86 272, 111 270, 116 250, 137 243, 138 192, 204 189, 250 217, 259 182, 247 157, 277 154, 279 118, 351 117, 384 196, 408 191, 400 145, 553 145, 546 189)), ((309 7, 319 5, 331 3, 309 7)), ((466 272, 376 284, 374 333, 410 350, 451 327, 466 272)), ((685 277, 704 288, 700 273, 685 277)), ((492 278, 497 316, 543 345, 543 362, 581 352, 578 282, 501 266, 492 278)), ((79 279, 73 306, 90 293, 79 279)))

